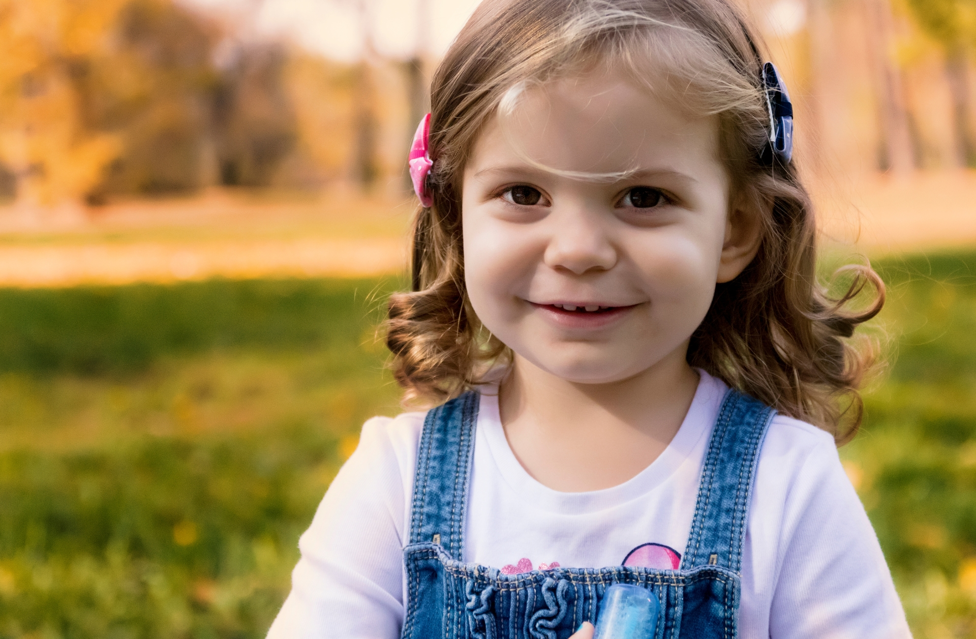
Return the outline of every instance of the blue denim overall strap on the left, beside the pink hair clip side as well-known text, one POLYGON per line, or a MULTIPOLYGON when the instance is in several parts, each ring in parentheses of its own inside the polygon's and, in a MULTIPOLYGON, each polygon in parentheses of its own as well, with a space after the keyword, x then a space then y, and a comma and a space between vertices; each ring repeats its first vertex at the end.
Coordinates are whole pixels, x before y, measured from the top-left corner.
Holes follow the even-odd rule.
POLYGON ((410 543, 439 543, 457 561, 464 561, 478 400, 476 392, 468 391, 427 412, 414 474, 410 543))

